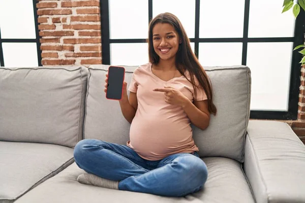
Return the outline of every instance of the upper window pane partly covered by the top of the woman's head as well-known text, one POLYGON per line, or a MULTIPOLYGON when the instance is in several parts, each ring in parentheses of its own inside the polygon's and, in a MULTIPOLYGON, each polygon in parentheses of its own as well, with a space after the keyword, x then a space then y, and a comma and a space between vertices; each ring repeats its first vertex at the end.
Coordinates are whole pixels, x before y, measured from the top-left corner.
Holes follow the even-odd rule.
POLYGON ((188 37, 195 37, 195 0, 153 0, 153 17, 165 12, 177 16, 188 37))

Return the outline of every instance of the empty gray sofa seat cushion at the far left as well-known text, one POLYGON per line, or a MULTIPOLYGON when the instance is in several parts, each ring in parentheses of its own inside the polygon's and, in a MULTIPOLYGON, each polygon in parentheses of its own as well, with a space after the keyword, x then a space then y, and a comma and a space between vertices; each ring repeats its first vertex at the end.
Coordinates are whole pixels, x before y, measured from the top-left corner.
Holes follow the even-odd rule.
POLYGON ((13 202, 73 161, 73 149, 68 147, 0 142, 0 202, 13 202))

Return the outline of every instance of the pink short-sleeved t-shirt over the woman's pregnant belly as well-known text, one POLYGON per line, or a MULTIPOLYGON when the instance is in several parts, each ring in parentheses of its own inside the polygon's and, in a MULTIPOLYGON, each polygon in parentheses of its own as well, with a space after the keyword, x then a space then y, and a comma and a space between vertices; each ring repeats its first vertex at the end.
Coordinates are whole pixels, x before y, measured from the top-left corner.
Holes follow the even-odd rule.
MULTIPOLYGON (((188 72, 186 76, 189 77, 188 72)), ((182 107, 166 103, 164 92, 153 91, 164 88, 165 84, 151 72, 151 63, 147 63, 135 70, 128 89, 137 93, 138 109, 127 146, 147 160, 199 150, 193 140, 190 119, 182 107)), ((191 101, 195 98, 193 85, 184 76, 169 80, 167 86, 180 90, 191 101)), ((203 88, 196 90, 197 100, 207 99, 203 88)))

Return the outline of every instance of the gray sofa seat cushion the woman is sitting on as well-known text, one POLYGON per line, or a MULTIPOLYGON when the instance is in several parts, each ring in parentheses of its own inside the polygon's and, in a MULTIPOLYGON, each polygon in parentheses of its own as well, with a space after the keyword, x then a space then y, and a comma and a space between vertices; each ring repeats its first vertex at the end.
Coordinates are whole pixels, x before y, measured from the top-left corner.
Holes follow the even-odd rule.
POLYGON ((239 162, 222 157, 203 158, 208 167, 204 188, 186 197, 164 197, 153 194, 120 191, 84 185, 76 181, 85 173, 75 163, 29 191, 15 203, 53 202, 254 202, 251 189, 239 162))

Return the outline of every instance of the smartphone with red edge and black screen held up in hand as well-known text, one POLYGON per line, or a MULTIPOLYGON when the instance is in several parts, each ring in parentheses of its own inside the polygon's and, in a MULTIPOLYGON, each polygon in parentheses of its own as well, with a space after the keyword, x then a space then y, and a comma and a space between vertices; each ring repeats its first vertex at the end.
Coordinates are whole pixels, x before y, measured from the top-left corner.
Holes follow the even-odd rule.
POLYGON ((121 66, 109 66, 107 99, 120 100, 123 96, 123 84, 125 79, 125 68, 121 66))

